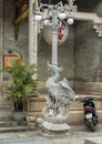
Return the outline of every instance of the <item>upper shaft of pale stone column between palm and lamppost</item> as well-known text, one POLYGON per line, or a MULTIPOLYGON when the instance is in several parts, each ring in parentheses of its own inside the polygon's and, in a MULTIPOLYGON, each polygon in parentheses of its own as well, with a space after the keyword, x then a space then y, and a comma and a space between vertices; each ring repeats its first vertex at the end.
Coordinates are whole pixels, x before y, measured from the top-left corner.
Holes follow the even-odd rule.
POLYGON ((29 1, 29 64, 38 62, 38 24, 34 21, 34 9, 38 7, 37 0, 29 1))

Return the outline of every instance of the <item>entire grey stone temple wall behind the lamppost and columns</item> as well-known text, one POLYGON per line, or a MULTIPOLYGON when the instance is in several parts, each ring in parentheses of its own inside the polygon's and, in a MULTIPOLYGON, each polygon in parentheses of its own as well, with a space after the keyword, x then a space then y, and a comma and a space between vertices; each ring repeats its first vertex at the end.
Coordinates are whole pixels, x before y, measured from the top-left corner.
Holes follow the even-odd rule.
MULTIPOLYGON (((82 0, 78 9, 83 12, 96 12, 102 16, 101 0, 82 0)), ((14 40, 14 1, 4 0, 4 34, 3 54, 18 52, 28 62, 28 20, 20 24, 18 41, 14 40), (13 12, 12 12, 13 11, 13 12)), ((51 62, 51 47, 48 45, 42 33, 38 40, 38 80, 44 84, 50 72, 47 70, 47 62, 51 62)), ((93 30, 93 23, 88 21, 75 21, 70 27, 68 40, 59 47, 59 66, 63 66, 62 78, 67 78, 74 90, 82 92, 101 92, 102 81, 102 38, 93 30)), ((12 54, 12 53, 11 53, 12 54)), ((44 86, 44 85, 43 85, 44 86)))

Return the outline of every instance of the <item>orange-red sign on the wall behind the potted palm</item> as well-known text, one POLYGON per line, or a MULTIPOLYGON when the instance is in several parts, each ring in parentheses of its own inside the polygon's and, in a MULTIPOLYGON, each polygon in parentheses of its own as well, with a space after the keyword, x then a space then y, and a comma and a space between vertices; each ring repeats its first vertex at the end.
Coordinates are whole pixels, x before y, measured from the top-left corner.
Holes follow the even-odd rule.
POLYGON ((17 55, 3 55, 3 66, 12 66, 12 61, 18 60, 17 55))

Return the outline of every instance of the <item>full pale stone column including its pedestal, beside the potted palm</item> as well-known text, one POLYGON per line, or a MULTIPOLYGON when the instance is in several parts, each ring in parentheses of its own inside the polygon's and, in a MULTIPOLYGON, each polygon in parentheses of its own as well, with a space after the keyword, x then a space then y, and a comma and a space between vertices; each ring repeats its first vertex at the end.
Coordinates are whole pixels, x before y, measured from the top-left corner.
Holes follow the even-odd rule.
MULTIPOLYGON (((38 2, 37 0, 29 0, 29 64, 38 63, 38 23, 34 21, 34 9, 37 9, 38 2)), ((33 75, 33 79, 37 79, 37 74, 33 75)), ((35 94, 35 92, 34 92, 35 94)), ((28 102, 28 126, 33 130, 34 128, 34 114, 31 111, 32 105, 34 105, 34 94, 30 96, 28 102)))

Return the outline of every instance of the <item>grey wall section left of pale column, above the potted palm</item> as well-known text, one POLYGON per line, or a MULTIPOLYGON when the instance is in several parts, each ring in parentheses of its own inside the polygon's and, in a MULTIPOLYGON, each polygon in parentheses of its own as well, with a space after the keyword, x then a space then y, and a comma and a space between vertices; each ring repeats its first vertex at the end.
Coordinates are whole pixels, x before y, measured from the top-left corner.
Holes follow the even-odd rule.
POLYGON ((18 40, 14 40, 14 0, 4 0, 4 34, 3 34, 3 54, 18 52, 23 60, 28 62, 28 20, 24 20, 19 27, 18 40), (9 53, 9 51, 12 51, 9 53))

